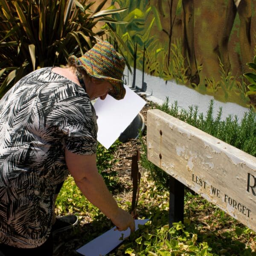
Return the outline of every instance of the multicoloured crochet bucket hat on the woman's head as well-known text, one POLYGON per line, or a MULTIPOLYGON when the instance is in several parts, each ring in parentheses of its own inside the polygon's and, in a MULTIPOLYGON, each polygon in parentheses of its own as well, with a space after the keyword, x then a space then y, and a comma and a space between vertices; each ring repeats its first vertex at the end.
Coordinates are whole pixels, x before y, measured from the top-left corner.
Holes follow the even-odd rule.
POLYGON ((70 64, 76 64, 78 69, 86 71, 91 77, 109 81, 114 89, 108 94, 115 99, 124 98, 125 88, 122 76, 125 69, 125 58, 116 52, 108 41, 95 44, 80 58, 72 55, 68 61, 70 64))

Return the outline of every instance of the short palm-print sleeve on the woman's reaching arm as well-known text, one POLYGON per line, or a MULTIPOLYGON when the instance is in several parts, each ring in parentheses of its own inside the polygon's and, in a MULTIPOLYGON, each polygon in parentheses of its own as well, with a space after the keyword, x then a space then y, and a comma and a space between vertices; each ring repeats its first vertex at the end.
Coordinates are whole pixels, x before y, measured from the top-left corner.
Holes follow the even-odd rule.
POLYGON ((73 96, 56 103, 51 114, 55 129, 64 139, 64 147, 75 154, 96 153, 96 113, 89 98, 73 96))

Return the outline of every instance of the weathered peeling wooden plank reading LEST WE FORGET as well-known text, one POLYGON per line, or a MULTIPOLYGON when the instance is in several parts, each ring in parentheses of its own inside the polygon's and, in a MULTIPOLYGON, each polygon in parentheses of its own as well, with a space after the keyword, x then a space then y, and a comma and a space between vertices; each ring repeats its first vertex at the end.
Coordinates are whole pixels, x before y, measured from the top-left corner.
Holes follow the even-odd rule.
POLYGON ((256 157, 157 109, 147 147, 149 161, 256 231, 256 157))

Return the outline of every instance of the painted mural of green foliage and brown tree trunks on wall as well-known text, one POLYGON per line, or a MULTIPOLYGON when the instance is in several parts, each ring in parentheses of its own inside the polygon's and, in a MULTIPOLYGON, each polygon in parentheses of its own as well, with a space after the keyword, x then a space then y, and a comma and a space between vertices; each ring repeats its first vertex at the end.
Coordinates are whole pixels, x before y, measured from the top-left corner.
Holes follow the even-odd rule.
MULTIPOLYGON (((255 105, 243 73, 256 55, 256 0, 112 0, 130 64, 223 102, 255 105), (130 52, 130 53, 128 53, 130 52)), ((142 84, 143 87, 143 84, 142 84)))

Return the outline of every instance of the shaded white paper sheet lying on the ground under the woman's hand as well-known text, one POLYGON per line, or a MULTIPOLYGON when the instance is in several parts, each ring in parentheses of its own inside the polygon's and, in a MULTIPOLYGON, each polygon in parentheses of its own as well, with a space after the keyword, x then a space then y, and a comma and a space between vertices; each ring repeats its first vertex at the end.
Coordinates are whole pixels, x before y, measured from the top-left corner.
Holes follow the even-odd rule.
MULTIPOLYGON (((135 230, 138 229, 139 224, 144 225, 147 221, 148 219, 135 220, 135 230)), ((123 239, 130 236, 131 233, 130 228, 125 231, 114 230, 115 228, 116 227, 113 227, 111 230, 108 230, 101 236, 96 237, 76 251, 84 256, 106 255, 107 253, 111 252, 111 250, 115 249, 119 244, 121 244, 123 239)))

